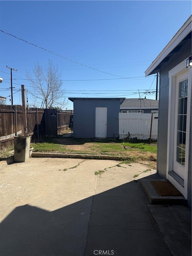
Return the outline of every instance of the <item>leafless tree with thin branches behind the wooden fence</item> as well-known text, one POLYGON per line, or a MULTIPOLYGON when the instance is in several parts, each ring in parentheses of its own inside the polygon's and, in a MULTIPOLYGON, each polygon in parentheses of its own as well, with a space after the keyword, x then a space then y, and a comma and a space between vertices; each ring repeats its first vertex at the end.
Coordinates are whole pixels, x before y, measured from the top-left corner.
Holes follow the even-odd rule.
POLYGON ((26 77, 33 86, 33 92, 28 91, 35 97, 37 107, 60 107, 67 106, 65 90, 62 88, 62 74, 58 66, 49 60, 47 67, 42 67, 37 62, 33 68, 33 73, 26 71, 26 77))

